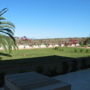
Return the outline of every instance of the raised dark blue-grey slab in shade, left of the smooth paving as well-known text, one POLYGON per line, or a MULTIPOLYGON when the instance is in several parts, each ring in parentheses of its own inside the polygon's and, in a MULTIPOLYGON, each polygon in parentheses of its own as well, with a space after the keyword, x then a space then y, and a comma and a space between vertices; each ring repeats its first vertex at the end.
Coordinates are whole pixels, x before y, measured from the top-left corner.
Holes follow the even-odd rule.
POLYGON ((36 72, 7 75, 5 90, 71 90, 71 85, 36 72))

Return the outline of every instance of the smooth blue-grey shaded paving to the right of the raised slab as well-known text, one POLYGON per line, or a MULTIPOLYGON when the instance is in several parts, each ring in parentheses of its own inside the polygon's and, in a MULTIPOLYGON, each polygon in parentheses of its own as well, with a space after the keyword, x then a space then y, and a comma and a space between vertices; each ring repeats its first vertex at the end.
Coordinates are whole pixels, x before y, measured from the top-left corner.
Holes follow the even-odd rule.
POLYGON ((90 69, 59 75, 54 79, 71 84, 71 90, 90 90, 90 69))

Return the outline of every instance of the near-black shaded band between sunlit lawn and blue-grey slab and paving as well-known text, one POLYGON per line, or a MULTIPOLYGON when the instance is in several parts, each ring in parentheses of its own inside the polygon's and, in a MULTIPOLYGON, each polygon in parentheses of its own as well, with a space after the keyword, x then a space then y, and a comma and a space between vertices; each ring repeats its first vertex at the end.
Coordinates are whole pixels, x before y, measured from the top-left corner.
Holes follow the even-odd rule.
POLYGON ((0 86, 3 85, 3 76, 6 74, 36 71, 52 77, 86 68, 90 68, 90 57, 75 59, 60 56, 48 56, 0 61, 0 86))

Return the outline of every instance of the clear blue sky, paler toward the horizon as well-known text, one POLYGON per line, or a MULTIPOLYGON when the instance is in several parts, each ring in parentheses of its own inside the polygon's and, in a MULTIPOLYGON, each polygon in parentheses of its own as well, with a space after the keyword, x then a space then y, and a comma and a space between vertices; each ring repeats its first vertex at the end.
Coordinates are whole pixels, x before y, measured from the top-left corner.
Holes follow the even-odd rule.
POLYGON ((90 36, 90 0, 0 0, 15 36, 70 38, 90 36))

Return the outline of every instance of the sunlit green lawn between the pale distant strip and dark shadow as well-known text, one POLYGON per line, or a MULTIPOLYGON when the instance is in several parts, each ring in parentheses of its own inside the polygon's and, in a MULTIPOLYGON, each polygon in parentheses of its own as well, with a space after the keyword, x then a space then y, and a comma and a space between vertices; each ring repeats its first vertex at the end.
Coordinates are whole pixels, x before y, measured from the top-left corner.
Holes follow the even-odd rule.
POLYGON ((43 56, 52 56, 52 55, 74 57, 74 58, 87 57, 90 56, 90 49, 60 47, 56 49, 43 48, 43 49, 14 50, 12 53, 12 57, 1 56, 1 60, 43 57, 43 56))

